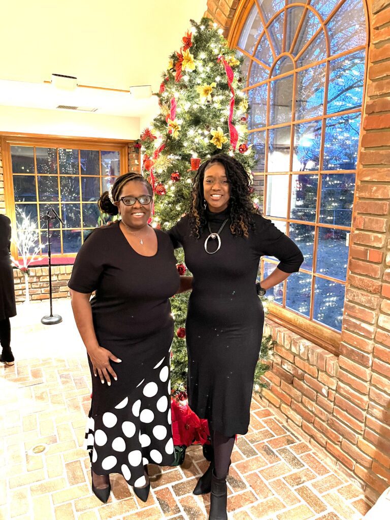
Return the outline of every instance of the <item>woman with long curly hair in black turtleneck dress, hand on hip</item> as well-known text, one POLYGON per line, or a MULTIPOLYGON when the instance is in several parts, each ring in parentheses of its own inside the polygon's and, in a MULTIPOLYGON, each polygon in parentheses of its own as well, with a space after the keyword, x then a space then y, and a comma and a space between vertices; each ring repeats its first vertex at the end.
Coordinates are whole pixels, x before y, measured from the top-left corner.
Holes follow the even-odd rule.
POLYGON ((255 287, 262 255, 280 260, 264 290, 298 271, 301 251, 253 208, 244 167, 225 154, 202 164, 191 209, 170 231, 192 272, 186 339, 191 409, 209 421, 214 460, 194 493, 211 491, 210 519, 226 519, 236 434, 248 432, 264 312, 255 287))

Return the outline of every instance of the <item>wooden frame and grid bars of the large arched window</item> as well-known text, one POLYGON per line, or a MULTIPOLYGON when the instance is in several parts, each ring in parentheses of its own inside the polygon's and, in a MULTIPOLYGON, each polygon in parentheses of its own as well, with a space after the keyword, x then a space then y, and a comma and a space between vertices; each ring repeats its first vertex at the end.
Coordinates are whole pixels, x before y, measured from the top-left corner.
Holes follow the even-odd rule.
MULTIPOLYGON (((285 122, 285 123, 280 123, 280 124, 269 125, 269 101, 270 101, 269 100, 269 96, 270 96, 270 88, 268 88, 267 89, 267 125, 263 126, 263 127, 259 127, 259 128, 251 128, 250 133, 264 131, 264 135, 266 137, 266 139, 265 139, 264 173, 254 173, 255 178, 257 177, 257 178, 264 179, 264 202, 263 202, 263 204, 264 204, 263 205, 264 215, 265 215, 265 208, 266 208, 267 178, 268 178, 268 176, 270 176, 270 175, 278 175, 278 174, 281 175, 283 173, 289 175, 289 202, 288 202, 288 206, 289 207, 288 207, 288 216, 290 217, 292 175, 297 175, 298 173, 302 173, 302 174, 304 174, 304 173, 307 173, 307 174, 314 174, 314 173, 316 173, 318 175, 317 208, 316 208, 316 220, 315 220, 314 223, 308 223, 306 221, 295 220, 295 219, 291 219, 291 218, 268 217, 268 218, 272 218, 272 220, 280 220, 281 222, 285 222, 286 225, 287 225, 287 229, 288 229, 290 223, 311 224, 311 225, 314 226, 314 229, 315 229, 316 232, 315 232, 315 243, 314 243, 314 250, 313 250, 313 268, 312 268, 311 271, 308 271, 308 270, 305 270, 305 269, 301 270, 302 272, 310 274, 311 277, 312 277, 311 297, 310 297, 310 303, 311 303, 311 306, 310 306, 310 318, 306 318, 303 315, 297 313, 296 311, 291 310, 291 309, 287 309, 287 308, 282 307, 282 306, 280 306, 278 304, 270 303, 268 309, 269 309, 269 317, 270 317, 270 319, 274 320, 275 322, 281 324, 284 327, 287 327, 289 330, 295 332, 296 334, 299 334, 299 335, 303 336, 307 340, 309 340, 309 341, 311 341, 311 342, 313 342, 313 343, 315 343, 317 345, 320 345, 323 348, 326 348, 327 350, 329 350, 330 352, 332 352, 335 355, 339 355, 340 354, 341 332, 336 331, 336 330, 330 328, 329 326, 327 326, 325 324, 320 324, 318 322, 311 321, 311 318, 313 316, 313 291, 314 291, 314 279, 315 279, 315 268, 316 268, 315 263, 316 263, 316 253, 317 253, 318 235, 319 235, 319 233, 317 232, 317 229, 321 228, 321 227, 329 227, 329 226, 323 225, 323 224, 321 224, 319 222, 320 197, 318 196, 318 194, 321 193, 321 191, 320 191, 321 190, 321 180, 322 180, 322 176, 323 176, 323 173, 324 173, 324 171, 321 169, 322 168, 322 160, 323 160, 323 151, 322 150, 323 150, 324 139, 325 139, 324 123, 326 122, 327 118, 329 118, 329 117, 353 114, 353 113, 357 113, 357 112, 360 112, 363 115, 364 107, 365 107, 366 85, 367 85, 367 68, 368 68, 368 61, 369 61, 368 60, 369 15, 368 15, 368 7, 367 7, 366 0, 362 0, 363 8, 365 10, 366 44, 365 45, 360 45, 358 47, 350 48, 350 49, 348 49, 346 51, 343 51, 342 53, 339 53, 339 54, 332 55, 331 52, 330 52, 329 35, 328 35, 328 30, 327 30, 327 27, 326 27, 326 23, 327 23, 327 21, 331 17, 333 17, 335 12, 337 10, 339 10, 344 4, 345 4, 345 0, 344 1, 342 0, 341 2, 339 2, 332 9, 332 11, 329 13, 328 17, 326 19, 322 19, 322 21, 320 21, 321 27, 310 38, 310 40, 304 45, 304 47, 301 49, 300 53, 298 53, 298 55, 295 57, 295 59, 296 59, 301 54, 303 54, 304 51, 306 50, 306 48, 308 48, 308 46, 310 45, 310 43, 315 41, 315 39, 318 36, 318 34, 320 33, 320 31, 324 31, 325 36, 326 36, 327 58, 315 61, 315 62, 310 63, 310 64, 306 64, 305 66, 302 66, 302 67, 295 67, 295 62, 294 62, 294 68, 293 68, 292 71, 289 71, 289 72, 286 72, 286 73, 282 73, 282 74, 279 74, 279 75, 272 76, 272 70, 274 69, 275 64, 277 63, 277 61, 282 56, 289 56, 291 58, 290 50, 291 50, 291 48, 293 48, 293 46, 294 46, 294 44, 295 44, 295 42, 297 40, 298 34, 299 34, 299 32, 301 30, 301 27, 303 25, 303 22, 304 22, 304 17, 305 17, 305 14, 306 14, 306 10, 314 11, 313 7, 311 7, 308 3, 306 3, 306 2, 289 3, 286 0, 284 7, 279 9, 277 12, 275 12, 274 15, 268 20, 268 22, 265 23, 265 20, 264 20, 261 8, 259 6, 259 1, 258 0, 242 0, 239 3, 239 5, 238 5, 238 7, 237 7, 237 9, 235 11, 235 15, 233 17, 233 20, 232 20, 232 23, 231 23, 231 26, 230 26, 230 30, 229 30, 229 35, 228 35, 228 41, 229 41, 230 47, 231 48, 236 48, 242 54, 244 54, 245 56, 248 56, 251 59, 250 66, 249 66, 249 69, 248 69, 248 83, 249 83, 249 78, 250 78, 250 72, 251 72, 252 64, 254 62, 256 62, 256 61, 259 62, 258 60, 256 60, 256 58, 254 56, 256 54, 257 46, 258 46, 259 42, 261 41, 261 38, 264 35, 266 36, 266 38, 267 38, 267 40, 269 42, 271 53, 272 53, 272 57, 274 58, 274 62, 272 63, 271 67, 265 67, 266 69, 269 69, 269 77, 268 77, 268 79, 264 80, 262 82, 258 82, 258 83, 253 84, 253 85, 249 85, 248 84, 247 86, 245 86, 242 89, 243 92, 247 92, 249 89, 252 89, 254 87, 257 87, 257 86, 260 86, 260 85, 263 85, 263 84, 268 84, 271 81, 274 82, 276 80, 281 79, 282 77, 287 77, 287 76, 291 76, 291 75, 295 76, 297 72, 303 71, 303 70, 307 70, 307 69, 315 67, 315 66, 317 66, 319 64, 322 64, 322 63, 326 64, 325 65, 326 66, 326 76, 325 76, 325 88, 324 88, 324 106, 323 106, 322 115, 315 116, 313 118, 302 119, 302 120, 298 120, 298 121, 294 120, 294 118, 295 118, 295 101, 294 100, 296 98, 295 92, 296 92, 296 83, 297 83, 295 81, 295 79, 294 79, 294 87, 293 87, 294 91, 293 91, 293 95, 292 95, 292 103, 293 103, 293 105, 292 105, 291 121, 290 122, 285 122), (251 12, 251 10, 252 10, 254 5, 257 6, 257 12, 259 13, 259 18, 261 19, 261 21, 263 23, 263 31, 261 32, 261 34, 259 34, 258 40, 254 44, 253 54, 251 55, 251 54, 248 53, 248 51, 245 51, 245 49, 242 49, 241 47, 238 47, 238 41, 239 41, 240 35, 242 33, 243 27, 244 27, 244 25, 246 23, 246 20, 248 19, 248 16, 249 16, 249 14, 250 14, 250 12, 251 12), (272 23, 272 21, 274 21, 279 16, 279 14, 282 11, 287 10, 288 8, 291 8, 291 7, 295 7, 295 6, 303 7, 304 11, 303 11, 301 20, 300 20, 300 22, 297 25, 296 33, 295 33, 295 36, 294 36, 294 38, 292 40, 291 48, 290 49, 282 48, 281 54, 277 56, 276 53, 275 53, 275 49, 272 46, 271 38, 270 38, 270 36, 268 34, 268 28, 270 27, 270 24, 272 23), (364 77, 363 77, 362 107, 361 107, 361 109, 344 110, 344 111, 341 111, 341 112, 334 112, 332 114, 327 114, 326 113, 326 108, 327 108, 326 107, 326 103, 327 103, 328 85, 329 85, 329 69, 330 69, 329 63, 332 60, 335 60, 337 58, 341 58, 343 56, 352 54, 352 53, 357 52, 359 50, 365 50, 365 54, 366 54, 365 72, 364 72, 364 77), (308 172, 292 172, 292 171, 290 171, 290 172, 267 172, 266 170, 267 170, 267 161, 268 161, 269 130, 272 129, 272 128, 285 127, 287 125, 291 125, 291 138, 290 138, 291 139, 290 140, 290 166, 291 166, 292 154, 293 154, 293 137, 292 136, 293 136, 293 127, 294 127, 294 125, 295 124, 307 123, 307 122, 310 122, 310 121, 317 121, 317 120, 321 120, 322 121, 322 133, 321 133, 321 145, 320 145, 321 146, 321 148, 320 148, 320 161, 321 161, 321 164, 319 164, 318 171, 316 171, 316 172, 310 172, 310 171, 308 171, 308 172)), ((283 32, 286 31, 286 24, 287 24, 287 17, 285 16, 284 17, 283 32)), ((284 41, 285 41, 285 38, 283 37, 283 42, 284 41)), ((264 67, 264 63, 262 63, 262 65, 264 67)), ((359 141, 358 141, 357 164, 359 164, 359 155, 360 155, 360 149, 361 149, 360 142, 361 142, 361 137, 362 137, 362 132, 361 132, 362 119, 363 118, 361 118, 361 122, 360 122, 360 133, 359 133, 359 141)), ((356 174, 356 170, 332 170, 332 171, 327 171, 327 173, 328 174, 337 174, 337 173, 339 173, 339 174, 355 173, 356 174)), ((355 200, 356 200, 356 189, 355 189, 355 194, 354 194, 354 205, 355 205, 355 200)), ((334 226, 334 228, 344 229, 344 230, 350 231, 352 226, 350 226, 350 227, 334 226)), ((350 250, 349 250, 349 256, 350 256, 350 250)), ((349 261, 349 256, 348 256, 348 261, 349 261)), ((269 261, 267 260, 267 262, 269 262, 269 261)), ((262 260, 262 264, 261 264, 262 268, 263 268, 263 264, 264 264, 264 261, 262 260)), ((275 263, 275 266, 276 265, 277 265, 277 263, 275 263)), ((331 280, 331 281, 333 280, 331 277, 324 276, 324 275, 321 275, 320 278, 328 279, 328 280, 331 280)), ((346 276, 346 281, 345 282, 342 282, 342 281, 340 281, 338 279, 336 281, 337 281, 337 283, 342 283, 343 285, 345 285, 345 287, 347 287, 347 285, 348 285, 348 270, 347 270, 347 276, 346 276)), ((286 292, 287 281, 284 281, 283 284, 284 284, 284 287, 283 287, 283 305, 285 305, 285 298, 286 298, 286 295, 287 295, 287 292, 286 292)))

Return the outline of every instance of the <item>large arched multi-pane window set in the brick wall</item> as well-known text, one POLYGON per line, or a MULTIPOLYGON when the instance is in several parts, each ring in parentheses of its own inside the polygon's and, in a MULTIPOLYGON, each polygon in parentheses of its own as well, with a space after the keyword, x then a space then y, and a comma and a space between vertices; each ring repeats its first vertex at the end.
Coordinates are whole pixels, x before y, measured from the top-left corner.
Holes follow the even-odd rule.
MULTIPOLYGON (((231 44, 245 56, 264 215, 305 256, 301 271, 274 289, 272 314, 314 336, 319 327, 307 325, 321 324, 336 345, 367 54, 363 0, 247 0, 239 9, 231 44)), ((275 264, 265 258, 263 274, 275 264)))

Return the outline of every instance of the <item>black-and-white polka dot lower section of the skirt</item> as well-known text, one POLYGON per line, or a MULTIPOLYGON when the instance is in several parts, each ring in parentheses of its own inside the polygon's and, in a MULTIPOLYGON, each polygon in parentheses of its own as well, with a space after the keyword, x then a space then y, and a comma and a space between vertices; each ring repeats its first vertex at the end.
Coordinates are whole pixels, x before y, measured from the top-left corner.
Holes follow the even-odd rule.
POLYGON ((141 379, 111 410, 89 412, 84 446, 96 474, 121 473, 129 485, 142 487, 145 464, 172 464, 169 362, 170 353, 149 372, 153 381, 141 379))

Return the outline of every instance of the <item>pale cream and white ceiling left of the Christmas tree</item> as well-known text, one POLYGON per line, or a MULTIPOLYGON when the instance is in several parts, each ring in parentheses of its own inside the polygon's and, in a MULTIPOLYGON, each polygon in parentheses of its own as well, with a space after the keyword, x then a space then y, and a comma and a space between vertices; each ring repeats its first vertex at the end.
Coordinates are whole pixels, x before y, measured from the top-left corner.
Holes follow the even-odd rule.
POLYGON ((19 0, 2 5, 0 105, 55 109, 97 108, 96 113, 142 117, 155 98, 77 87, 63 90, 51 74, 79 85, 155 92, 168 55, 206 10, 206 0, 19 0))

